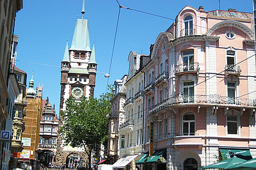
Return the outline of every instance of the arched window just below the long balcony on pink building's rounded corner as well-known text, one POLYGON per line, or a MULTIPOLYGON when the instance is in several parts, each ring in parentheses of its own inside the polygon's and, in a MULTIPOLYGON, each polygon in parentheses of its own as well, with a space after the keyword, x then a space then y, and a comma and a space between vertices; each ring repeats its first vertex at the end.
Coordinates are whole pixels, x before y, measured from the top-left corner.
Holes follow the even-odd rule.
POLYGON ((195 115, 193 113, 182 116, 182 135, 195 135, 195 115))

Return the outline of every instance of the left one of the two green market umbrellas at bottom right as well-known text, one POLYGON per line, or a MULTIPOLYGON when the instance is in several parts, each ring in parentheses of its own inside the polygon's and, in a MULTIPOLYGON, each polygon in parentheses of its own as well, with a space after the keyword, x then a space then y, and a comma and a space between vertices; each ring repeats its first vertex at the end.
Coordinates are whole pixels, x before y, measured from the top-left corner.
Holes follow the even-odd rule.
POLYGON ((201 167, 201 169, 214 169, 214 168, 231 169, 231 168, 234 168, 234 166, 241 164, 245 161, 246 160, 244 160, 242 158, 232 157, 232 158, 228 158, 226 160, 217 162, 215 164, 211 164, 209 166, 201 167))

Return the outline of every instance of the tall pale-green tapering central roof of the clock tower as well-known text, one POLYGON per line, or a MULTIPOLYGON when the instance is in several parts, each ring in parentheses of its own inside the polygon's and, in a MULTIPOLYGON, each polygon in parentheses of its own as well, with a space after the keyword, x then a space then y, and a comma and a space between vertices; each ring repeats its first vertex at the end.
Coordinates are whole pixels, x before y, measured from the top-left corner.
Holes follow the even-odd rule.
POLYGON ((70 50, 91 51, 87 19, 77 19, 70 50))

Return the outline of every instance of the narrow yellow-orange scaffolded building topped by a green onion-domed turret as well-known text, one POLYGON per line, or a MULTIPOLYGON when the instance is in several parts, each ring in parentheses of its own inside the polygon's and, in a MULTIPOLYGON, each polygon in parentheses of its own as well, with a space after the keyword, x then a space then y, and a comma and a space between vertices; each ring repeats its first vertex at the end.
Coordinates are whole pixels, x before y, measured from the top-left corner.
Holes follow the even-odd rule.
POLYGON ((33 76, 29 81, 29 89, 26 91, 26 100, 28 102, 26 117, 24 118, 25 130, 22 134, 22 143, 24 149, 20 158, 38 159, 38 143, 40 132, 40 116, 42 113, 42 86, 34 89, 33 76))

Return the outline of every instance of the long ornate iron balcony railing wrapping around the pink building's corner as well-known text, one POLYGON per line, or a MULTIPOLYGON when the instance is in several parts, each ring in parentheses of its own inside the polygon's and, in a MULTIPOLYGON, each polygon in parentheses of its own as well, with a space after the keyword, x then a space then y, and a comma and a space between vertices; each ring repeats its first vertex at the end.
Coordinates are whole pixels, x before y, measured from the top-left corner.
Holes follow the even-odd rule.
POLYGON ((209 105, 243 105, 243 106, 256 106, 256 99, 250 98, 230 98, 230 97, 221 97, 220 95, 184 95, 180 94, 176 97, 171 97, 159 104, 154 105, 148 109, 148 114, 154 114, 159 112, 166 107, 171 105, 179 104, 209 104, 209 105))

